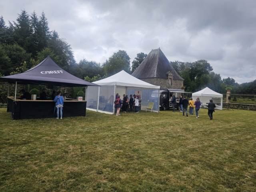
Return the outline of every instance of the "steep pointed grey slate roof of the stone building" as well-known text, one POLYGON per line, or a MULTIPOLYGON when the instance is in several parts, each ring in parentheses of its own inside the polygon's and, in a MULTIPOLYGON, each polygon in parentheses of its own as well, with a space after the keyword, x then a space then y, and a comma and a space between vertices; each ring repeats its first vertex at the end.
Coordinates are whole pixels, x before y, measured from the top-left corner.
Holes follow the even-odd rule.
POLYGON ((166 74, 168 71, 172 72, 173 79, 184 80, 181 76, 178 75, 160 48, 158 48, 150 51, 148 56, 146 56, 138 68, 132 73, 132 76, 139 79, 168 79, 168 75, 166 74))

